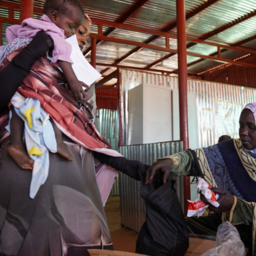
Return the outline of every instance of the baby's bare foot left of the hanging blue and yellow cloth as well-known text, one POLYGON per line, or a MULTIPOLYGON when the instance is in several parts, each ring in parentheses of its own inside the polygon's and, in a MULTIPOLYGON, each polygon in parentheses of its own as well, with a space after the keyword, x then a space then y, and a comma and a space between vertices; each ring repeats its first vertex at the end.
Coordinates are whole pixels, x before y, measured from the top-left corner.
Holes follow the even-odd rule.
POLYGON ((8 153, 22 169, 33 169, 34 161, 27 154, 27 151, 24 149, 24 147, 18 145, 10 145, 8 147, 8 153))

